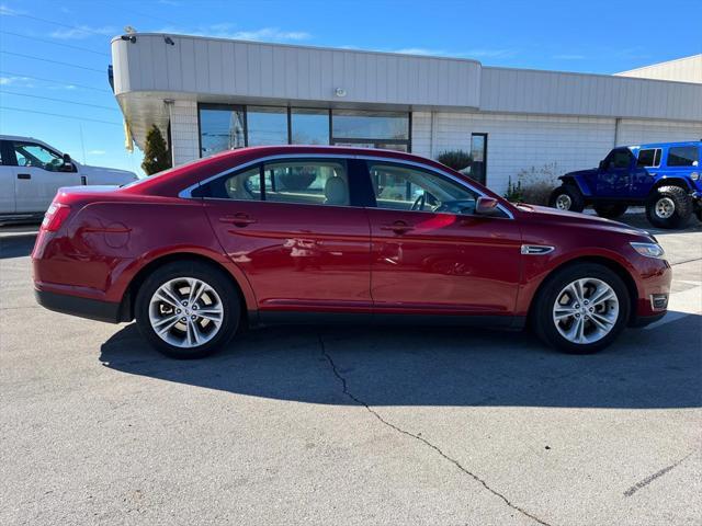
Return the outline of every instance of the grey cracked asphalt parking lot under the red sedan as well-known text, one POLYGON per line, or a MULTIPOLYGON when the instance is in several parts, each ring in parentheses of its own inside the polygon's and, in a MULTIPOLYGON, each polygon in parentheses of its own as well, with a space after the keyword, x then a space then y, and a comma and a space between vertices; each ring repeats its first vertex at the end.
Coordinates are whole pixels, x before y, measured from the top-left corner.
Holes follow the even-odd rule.
POLYGON ((0 231, 0 524, 702 523, 699 222, 655 232, 671 312, 593 356, 310 327, 172 361, 36 306, 32 232, 0 231))

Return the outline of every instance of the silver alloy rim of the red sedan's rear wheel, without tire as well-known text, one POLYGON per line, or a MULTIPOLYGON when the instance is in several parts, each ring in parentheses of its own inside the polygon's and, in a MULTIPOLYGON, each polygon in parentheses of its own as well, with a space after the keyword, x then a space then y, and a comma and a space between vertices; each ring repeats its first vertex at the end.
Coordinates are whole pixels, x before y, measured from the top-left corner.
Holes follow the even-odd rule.
POLYGON ((224 305, 216 290, 194 277, 163 283, 149 301, 149 322, 166 343, 192 348, 211 341, 222 328, 224 305))

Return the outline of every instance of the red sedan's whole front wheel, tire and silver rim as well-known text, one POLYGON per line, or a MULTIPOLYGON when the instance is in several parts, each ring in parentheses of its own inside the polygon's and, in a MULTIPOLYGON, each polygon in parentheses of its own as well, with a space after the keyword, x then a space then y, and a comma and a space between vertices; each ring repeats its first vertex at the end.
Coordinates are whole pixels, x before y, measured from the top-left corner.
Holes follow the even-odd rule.
POLYGON ((579 263, 547 278, 532 322, 548 345, 568 354, 591 354, 622 332, 631 310, 629 290, 607 266, 579 263))

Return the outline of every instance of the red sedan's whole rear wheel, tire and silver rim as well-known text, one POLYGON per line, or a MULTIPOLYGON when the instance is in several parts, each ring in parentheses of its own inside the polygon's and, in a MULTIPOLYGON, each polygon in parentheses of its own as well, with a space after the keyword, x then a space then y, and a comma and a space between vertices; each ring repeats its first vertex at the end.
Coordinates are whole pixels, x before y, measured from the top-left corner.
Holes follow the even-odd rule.
POLYGON ((174 358, 200 358, 236 333, 241 306, 231 279, 195 261, 168 263, 141 284, 136 322, 157 350, 174 358))

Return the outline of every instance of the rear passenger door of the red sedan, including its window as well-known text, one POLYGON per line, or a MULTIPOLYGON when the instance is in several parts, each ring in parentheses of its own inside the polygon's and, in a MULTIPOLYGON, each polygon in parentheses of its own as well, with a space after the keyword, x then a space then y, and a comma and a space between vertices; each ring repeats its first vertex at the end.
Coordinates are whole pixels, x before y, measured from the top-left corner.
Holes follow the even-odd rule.
POLYGON ((352 206, 354 162, 281 159, 203 186, 214 231, 263 320, 301 310, 370 317, 370 230, 364 208, 352 206))

